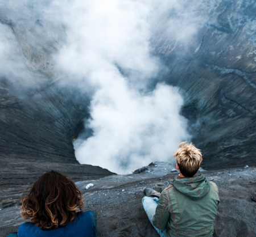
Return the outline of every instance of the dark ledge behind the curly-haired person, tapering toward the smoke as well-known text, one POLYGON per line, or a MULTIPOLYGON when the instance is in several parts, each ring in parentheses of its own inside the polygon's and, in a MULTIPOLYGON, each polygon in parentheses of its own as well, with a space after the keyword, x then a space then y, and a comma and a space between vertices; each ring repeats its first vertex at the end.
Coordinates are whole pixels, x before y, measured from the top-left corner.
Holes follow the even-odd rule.
POLYGON ((112 172, 90 165, 77 163, 58 163, 58 162, 40 162, 40 160, 24 160, 20 163, 19 159, 9 157, 1 159, 0 172, 0 209, 14 206, 22 193, 26 192, 32 183, 42 173, 50 170, 56 170, 68 175, 74 181, 100 179, 112 172))

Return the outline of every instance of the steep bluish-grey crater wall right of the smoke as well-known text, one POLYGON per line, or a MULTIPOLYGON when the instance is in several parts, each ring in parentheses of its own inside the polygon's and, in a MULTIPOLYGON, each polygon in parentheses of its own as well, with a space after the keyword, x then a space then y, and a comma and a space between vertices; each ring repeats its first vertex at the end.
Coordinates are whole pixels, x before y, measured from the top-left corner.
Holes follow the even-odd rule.
POLYGON ((214 9, 205 3, 209 19, 197 23, 189 47, 171 35, 165 48, 161 35, 152 40, 168 67, 168 83, 181 89, 181 113, 205 168, 255 164, 255 10, 253 1, 219 1, 214 9))

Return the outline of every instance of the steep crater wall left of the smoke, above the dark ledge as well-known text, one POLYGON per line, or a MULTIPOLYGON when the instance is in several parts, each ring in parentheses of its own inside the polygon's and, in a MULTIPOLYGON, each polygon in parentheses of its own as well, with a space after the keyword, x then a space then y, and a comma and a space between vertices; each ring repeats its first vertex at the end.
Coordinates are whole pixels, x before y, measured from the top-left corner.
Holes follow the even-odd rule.
POLYGON ((59 87, 52 77, 52 54, 64 39, 64 29, 42 22, 32 3, 1 5, 1 43, 7 48, 1 58, 1 155, 77 163, 72 138, 88 99, 59 87))

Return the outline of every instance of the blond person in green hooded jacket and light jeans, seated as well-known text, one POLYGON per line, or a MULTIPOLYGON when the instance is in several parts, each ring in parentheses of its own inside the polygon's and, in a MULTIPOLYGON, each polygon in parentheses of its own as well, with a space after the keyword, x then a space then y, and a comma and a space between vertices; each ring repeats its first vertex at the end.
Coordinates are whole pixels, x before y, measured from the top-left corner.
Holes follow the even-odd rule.
POLYGON ((162 193, 144 188, 144 210, 162 237, 212 237, 220 198, 217 185, 203 174, 197 175, 201 151, 192 143, 181 142, 174 157, 179 177, 162 193))

